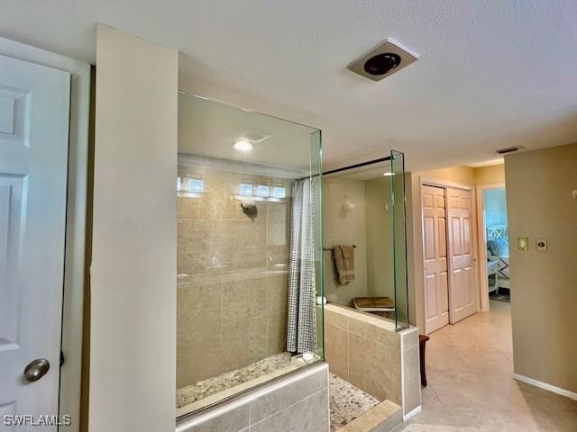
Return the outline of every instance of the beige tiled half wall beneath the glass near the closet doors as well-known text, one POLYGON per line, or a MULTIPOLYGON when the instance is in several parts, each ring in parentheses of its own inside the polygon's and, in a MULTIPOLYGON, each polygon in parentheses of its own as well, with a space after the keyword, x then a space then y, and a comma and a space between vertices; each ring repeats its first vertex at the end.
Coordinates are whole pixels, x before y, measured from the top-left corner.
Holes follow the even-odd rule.
POLYGON ((325 305, 325 358, 333 374, 408 414, 420 406, 418 332, 389 320, 325 305))

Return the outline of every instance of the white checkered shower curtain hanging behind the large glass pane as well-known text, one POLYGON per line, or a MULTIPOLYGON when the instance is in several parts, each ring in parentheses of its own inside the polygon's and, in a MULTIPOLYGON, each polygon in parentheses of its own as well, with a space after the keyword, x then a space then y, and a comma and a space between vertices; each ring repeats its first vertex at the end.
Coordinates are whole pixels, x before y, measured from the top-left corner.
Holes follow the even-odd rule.
POLYGON ((290 211, 287 350, 316 352, 315 226, 317 178, 296 180, 290 211))

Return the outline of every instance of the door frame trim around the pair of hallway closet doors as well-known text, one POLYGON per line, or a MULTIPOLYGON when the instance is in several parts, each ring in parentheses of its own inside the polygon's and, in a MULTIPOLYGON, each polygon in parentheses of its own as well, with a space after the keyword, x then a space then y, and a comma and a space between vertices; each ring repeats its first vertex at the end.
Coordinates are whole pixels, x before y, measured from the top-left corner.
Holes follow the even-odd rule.
MULTIPOLYGON (((463 191, 470 191, 472 193, 472 199, 471 199, 471 203, 472 203, 472 209, 471 209, 471 213, 472 213, 472 250, 473 250, 473 281, 475 281, 475 295, 476 295, 476 299, 477 299, 477 311, 481 311, 481 286, 480 286, 480 279, 479 279, 479 256, 478 256, 478 221, 477 221, 477 204, 476 204, 476 191, 475 191, 475 186, 471 185, 471 184, 462 184, 462 183, 455 183, 455 182, 451 182, 448 180, 440 180, 438 178, 434 178, 434 177, 429 177, 426 175, 418 175, 418 196, 416 197, 417 200, 413 200, 413 202, 418 202, 418 223, 417 223, 417 238, 419 238, 420 240, 420 275, 418 275, 417 277, 419 277, 419 281, 420 281, 420 295, 419 297, 422 299, 422 307, 418 308, 420 311, 422 311, 423 316, 421 317, 421 322, 423 322, 423 326, 425 328, 425 334, 428 335, 429 331, 428 329, 426 329, 426 297, 425 297, 425 270, 424 270, 424 248, 425 248, 425 238, 423 235, 423 206, 421 203, 422 200, 422 195, 423 195, 423 186, 436 186, 436 187, 442 187, 445 190, 445 203, 446 201, 446 189, 447 188, 454 188, 454 189, 461 189, 463 191)), ((445 223, 448 224, 448 218, 446 218, 445 223)), ((446 229, 448 232, 448 225, 446 225, 446 229)), ((450 247, 449 242, 447 241, 447 251, 448 248, 450 247)), ((485 258, 486 259, 486 258, 485 258)), ((447 260, 447 270, 449 272, 452 271, 452 267, 453 264, 450 263, 451 260, 447 260)), ((451 290, 451 278, 448 278, 448 288, 449 290, 451 290)), ((451 312, 451 296, 449 295, 449 313, 451 312)))

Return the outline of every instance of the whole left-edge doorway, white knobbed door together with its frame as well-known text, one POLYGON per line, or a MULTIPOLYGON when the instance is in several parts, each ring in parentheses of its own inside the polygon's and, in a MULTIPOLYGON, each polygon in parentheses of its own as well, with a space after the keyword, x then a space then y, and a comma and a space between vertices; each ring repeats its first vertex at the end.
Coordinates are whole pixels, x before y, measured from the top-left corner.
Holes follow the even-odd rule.
POLYGON ((0 413, 75 431, 91 67, 2 38, 0 62, 0 413))

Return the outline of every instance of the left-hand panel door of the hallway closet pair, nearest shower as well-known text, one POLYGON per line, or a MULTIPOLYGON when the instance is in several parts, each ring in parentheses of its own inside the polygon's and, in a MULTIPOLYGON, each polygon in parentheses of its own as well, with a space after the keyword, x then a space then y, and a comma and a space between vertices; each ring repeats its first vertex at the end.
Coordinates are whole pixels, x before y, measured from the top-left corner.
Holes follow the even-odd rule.
POLYGON ((422 188, 426 333, 449 323, 444 189, 422 188))

